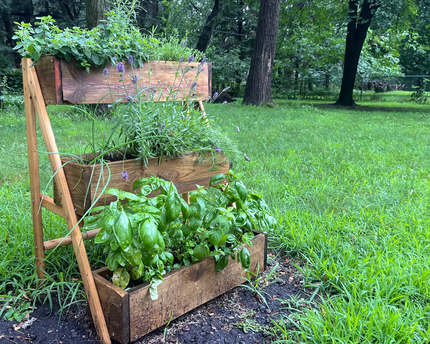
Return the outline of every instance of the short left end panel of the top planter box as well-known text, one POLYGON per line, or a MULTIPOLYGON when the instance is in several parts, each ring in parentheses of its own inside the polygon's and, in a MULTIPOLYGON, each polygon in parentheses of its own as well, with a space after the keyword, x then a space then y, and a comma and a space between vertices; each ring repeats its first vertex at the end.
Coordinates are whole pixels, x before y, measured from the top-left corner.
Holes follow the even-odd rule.
MULTIPOLYGON (((42 89, 43 99, 46 105, 62 104, 57 103, 57 91, 55 88, 55 64, 59 58, 53 55, 41 56, 34 65, 37 75, 40 76, 40 89, 42 89)), ((32 61, 33 62, 33 61, 32 61)), ((58 73, 58 72, 57 72, 58 73)), ((60 71, 61 74, 61 71, 60 71)), ((62 95, 61 95, 62 98, 62 95)))

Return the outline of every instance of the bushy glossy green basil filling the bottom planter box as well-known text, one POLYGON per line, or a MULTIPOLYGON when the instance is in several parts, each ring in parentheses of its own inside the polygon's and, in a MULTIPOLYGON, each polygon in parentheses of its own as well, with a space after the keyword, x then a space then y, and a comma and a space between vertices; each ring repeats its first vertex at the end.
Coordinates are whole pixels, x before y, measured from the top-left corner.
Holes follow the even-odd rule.
POLYGON ((261 194, 247 190, 231 173, 211 179, 211 186, 224 180, 228 184, 215 186, 210 197, 198 186, 190 192, 189 204, 172 182, 154 175, 134 182, 137 194, 107 190, 117 201, 95 208, 100 213, 87 217, 83 230, 101 228, 95 243, 104 243, 108 252, 112 282, 122 289, 130 279, 150 282, 151 299, 157 300, 166 272, 205 257, 214 257, 215 269, 221 271, 230 255, 248 271, 251 256, 244 245, 252 246, 253 230, 267 232, 276 220, 261 194))

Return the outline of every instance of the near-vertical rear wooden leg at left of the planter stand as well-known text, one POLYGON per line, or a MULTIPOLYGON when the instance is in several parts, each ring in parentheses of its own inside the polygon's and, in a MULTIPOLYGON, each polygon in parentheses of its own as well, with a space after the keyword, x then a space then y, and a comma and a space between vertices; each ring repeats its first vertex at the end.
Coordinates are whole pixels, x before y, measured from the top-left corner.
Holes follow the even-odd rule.
MULTIPOLYGON (((27 71, 22 71, 27 84, 27 71)), ((44 279, 45 249, 43 247, 42 211, 40 209, 39 156, 37 154, 36 112, 31 101, 30 89, 24 86, 25 127, 27 130, 28 170, 30 172, 31 215, 33 217, 34 257, 37 276, 44 279), (39 210, 40 209, 40 210, 39 210)), ((41 281, 39 281, 41 282, 41 281)))

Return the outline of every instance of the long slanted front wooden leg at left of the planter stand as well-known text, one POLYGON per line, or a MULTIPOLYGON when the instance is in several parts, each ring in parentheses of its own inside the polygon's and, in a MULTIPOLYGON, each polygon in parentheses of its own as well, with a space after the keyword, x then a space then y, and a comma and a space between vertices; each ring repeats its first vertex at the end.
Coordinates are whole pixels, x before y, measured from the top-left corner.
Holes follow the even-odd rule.
POLYGON ((37 118, 39 119, 40 130, 42 131, 46 150, 50 153, 54 153, 48 154, 49 161, 51 163, 52 171, 58 171, 54 177, 55 183, 57 184, 58 193, 60 194, 64 216, 66 216, 67 226, 69 230, 71 230, 70 237, 76 255, 76 260, 79 265, 82 282, 85 288, 95 328, 97 329, 97 333, 101 341, 110 344, 111 338, 109 337, 109 332, 107 331, 106 321, 104 320, 103 310, 101 309, 100 299, 98 298, 98 293, 95 287, 94 278, 92 276, 91 267, 89 265, 88 256, 86 254, 84 241, 82 239, 82 233, 78 226, 78 219, 74 210, 66 176, 64 175, 64 170, 61 168, 60 156, 59 154, 55 154, 58 153, 58 147, 55 142, 51 122, 46 111, 45 101, 43 100, 42 90, 40 89, 36 70, 34 68, 29 68, 31 63, 32 61, 29 58, 22 59, 22 68, 25 68, 25 71, 27 72, 27 83, 24 84, 24 87, 30 89, 32 97, 31 100, 36 107, 37 118))

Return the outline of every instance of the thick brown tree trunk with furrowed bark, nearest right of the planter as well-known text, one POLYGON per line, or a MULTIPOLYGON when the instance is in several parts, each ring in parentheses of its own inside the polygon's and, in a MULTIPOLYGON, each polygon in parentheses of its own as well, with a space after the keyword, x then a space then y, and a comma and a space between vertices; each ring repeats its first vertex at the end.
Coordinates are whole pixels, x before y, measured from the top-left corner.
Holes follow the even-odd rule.
POLYGON ((246 79, 242 104, 260 105, 272 100, 272 70, 275 59, 280 0, 261 0, 255 45, 246 79))

